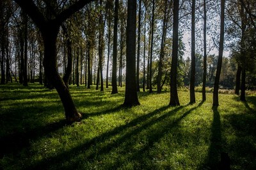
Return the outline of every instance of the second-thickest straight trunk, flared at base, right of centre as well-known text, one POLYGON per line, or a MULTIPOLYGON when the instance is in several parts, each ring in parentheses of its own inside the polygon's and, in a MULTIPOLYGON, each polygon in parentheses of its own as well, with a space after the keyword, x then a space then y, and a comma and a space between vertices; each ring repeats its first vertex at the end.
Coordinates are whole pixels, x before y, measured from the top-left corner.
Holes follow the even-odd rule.
POLYGON ((179 48, 179 0, 174 0, 173 4, 173 45, 172 45, 172 68, 171 68, 171 98, 172 106, 180 105, 177 91, 177 65, 179 48))

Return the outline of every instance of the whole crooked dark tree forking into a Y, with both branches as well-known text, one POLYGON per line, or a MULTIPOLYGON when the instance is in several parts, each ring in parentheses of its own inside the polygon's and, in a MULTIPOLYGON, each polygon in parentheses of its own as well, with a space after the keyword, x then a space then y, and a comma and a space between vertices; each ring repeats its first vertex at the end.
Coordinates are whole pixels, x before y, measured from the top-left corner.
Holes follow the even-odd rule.
MULTIPOLYGON (((17 4, 26 12, 29 17, 38 26, 42 37, 44 39, 44 68, 45 75, 51 84, 56 88, 61 98, 61 102, 65 109, 65 116, 68 122, 77 121, 81 118, 81 114, 77 112, 72 97, 68 91, 67 86, 61 79, 57 70, 57 52, 56 52, 56 40, 61 24, 68 19, 72 14, 83 8, 91 1, 77 1, 71 4, 61 12, 56 12, 57 15, 45 16, 40 8, 36 6, 34 1, 22 1, 15 0, 17 4)), ((47 5, 48 6, 48 5, 47 5)), ((49 6, 50 8, 50 6, 49 6)), ((50 8, 51 9, 51 8, 50 8)))

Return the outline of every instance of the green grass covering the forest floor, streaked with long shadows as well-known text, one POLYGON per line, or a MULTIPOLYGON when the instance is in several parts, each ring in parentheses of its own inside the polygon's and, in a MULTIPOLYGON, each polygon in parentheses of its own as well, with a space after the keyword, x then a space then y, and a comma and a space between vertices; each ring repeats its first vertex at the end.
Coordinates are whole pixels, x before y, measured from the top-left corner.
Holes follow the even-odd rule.
MULTIPOLYGON (((122 108, 124 88, 111 95, 70 87, 83 120, 65 123, 55 90, 38 84, 0 86, 0 166, 3 169, 216 169, 226 152, 232 169, 256 169, 256 97, 240 102, 212 94, 189 105, 189 92, 169 107, 170 93, 138 93, 122 108)), ((0 167, 0 169, 1 169, 0 167)))

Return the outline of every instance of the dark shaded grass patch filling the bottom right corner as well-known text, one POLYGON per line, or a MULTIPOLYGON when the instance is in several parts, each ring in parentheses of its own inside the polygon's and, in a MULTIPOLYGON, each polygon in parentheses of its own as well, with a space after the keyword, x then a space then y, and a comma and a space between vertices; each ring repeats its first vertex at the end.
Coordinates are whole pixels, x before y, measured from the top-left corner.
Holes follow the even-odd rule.
POLYGON ((236 169, 256 169, 256 114, 224 116, 234 131, 229 139, 230 154, 236 169))

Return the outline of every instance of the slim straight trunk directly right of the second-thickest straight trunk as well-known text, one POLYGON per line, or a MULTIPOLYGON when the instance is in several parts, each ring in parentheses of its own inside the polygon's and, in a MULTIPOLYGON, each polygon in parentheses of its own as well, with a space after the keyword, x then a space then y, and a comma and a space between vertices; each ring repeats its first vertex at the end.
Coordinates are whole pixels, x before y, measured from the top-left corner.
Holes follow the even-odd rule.
POLYGON ((195 4, 196 4, 196 1, 192 0, 190 104, 194 104, 196 102, 196 98, 195 98, 195 74, 196 74, 196 58, 195 58, 195 4))

